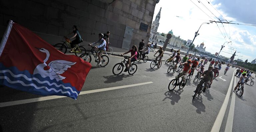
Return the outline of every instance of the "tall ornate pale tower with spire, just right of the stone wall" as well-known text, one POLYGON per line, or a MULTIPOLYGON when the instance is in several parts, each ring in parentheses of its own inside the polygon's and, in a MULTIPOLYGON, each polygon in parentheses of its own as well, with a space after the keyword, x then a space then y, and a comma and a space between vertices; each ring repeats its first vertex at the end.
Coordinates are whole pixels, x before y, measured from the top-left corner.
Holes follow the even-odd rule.
POLYGON ((157 40, 157 35, 158 35, 157 29, 159 27, 161 9, 162 9, 162 7, 160 8, 158 14, 156 15, 155 21, 152 23, 152 26, 151 26, 150 37, 149 38, 152 39, 152 40, 157 40))

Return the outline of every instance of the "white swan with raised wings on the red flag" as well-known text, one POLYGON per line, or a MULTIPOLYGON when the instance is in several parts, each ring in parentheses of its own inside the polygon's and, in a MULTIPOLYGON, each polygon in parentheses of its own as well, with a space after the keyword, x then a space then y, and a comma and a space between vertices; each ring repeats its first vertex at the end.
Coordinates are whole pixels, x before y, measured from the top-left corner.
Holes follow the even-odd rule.
POLYGON ((57 81, 63 80, 66 77, 61 76, 68 68, 76 64, 76 62, 70 62, 66 60, 53 60, 48 65, 46 64, 47 60, 50 57, 50 53, 45 48, 37 48, 39 51, 46 53, 46 58, 44 63, 38 64, 34 69, 33 74, 40 74, 43 78, 50 77, 51 80, 56 79, 57 81), (44 70, 44 67, 49 66, 50 69, 44 70))

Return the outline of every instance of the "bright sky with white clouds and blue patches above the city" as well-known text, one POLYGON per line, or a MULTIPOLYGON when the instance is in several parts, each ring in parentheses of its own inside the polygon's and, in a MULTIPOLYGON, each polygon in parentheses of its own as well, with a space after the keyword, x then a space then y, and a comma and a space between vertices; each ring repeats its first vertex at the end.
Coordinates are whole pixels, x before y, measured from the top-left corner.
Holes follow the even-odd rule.
POLYGON ((235 60, 239 57, 251 62, 256 58, 255 5, 256 0, 160 0, 156 4, 153 20, 162 7, 157 32, 168 33, 172 30, 175 36, 184 40, 193 40, 195 32, 204 22, 223 20, 235 23, 203 24, 193 43, 197 46, 204 42, 206 51, 212 54, 219 52, 224 44, 220 55, 230 58, 237 50, 235 60))

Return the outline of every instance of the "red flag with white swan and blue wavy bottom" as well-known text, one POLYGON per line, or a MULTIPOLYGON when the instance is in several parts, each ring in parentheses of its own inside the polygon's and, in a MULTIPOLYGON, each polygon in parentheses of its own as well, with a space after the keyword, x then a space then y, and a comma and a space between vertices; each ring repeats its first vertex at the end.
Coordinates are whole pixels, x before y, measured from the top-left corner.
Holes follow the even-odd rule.
POLYGON ((0 84, 77 99, 90 69, 90 63, 61 53, 30 30, 9 22, 0 44, 0 84))

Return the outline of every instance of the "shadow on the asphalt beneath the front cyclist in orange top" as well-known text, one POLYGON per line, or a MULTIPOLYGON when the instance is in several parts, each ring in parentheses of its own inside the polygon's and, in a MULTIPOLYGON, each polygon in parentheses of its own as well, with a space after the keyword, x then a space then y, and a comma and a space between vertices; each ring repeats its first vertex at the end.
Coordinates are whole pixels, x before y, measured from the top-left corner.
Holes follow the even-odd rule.
POLYGON ((164 93, 164 95, 166 96, 163 101, 165 99, 171 99, 171 104, 174 105, 175 102, 178 103, 178 101, 180 100, 180 94, 183 92, 183 90, 174 90, 174 91, 167 91, 164 93))

